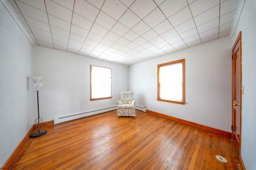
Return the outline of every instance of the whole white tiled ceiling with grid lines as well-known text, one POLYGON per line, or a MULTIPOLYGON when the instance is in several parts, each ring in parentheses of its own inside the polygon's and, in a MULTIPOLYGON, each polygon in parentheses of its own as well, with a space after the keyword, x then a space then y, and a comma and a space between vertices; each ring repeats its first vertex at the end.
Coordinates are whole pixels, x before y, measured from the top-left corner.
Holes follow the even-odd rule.
POLYGON ((38 46, 132 65, 230 35, 239 0, 8 0, 38 46))

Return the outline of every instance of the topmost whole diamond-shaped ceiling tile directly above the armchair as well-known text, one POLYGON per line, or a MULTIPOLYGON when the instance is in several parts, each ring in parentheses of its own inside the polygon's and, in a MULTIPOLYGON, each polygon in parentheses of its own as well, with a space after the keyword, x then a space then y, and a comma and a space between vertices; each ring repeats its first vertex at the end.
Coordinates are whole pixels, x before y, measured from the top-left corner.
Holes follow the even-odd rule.
POLYGON ((118 22, 122 23, 129 29, 134 27, 137 23, 141 21, 138 16, 136 16, 131 10, 127 10, 124 15, 118 20, 118 22))

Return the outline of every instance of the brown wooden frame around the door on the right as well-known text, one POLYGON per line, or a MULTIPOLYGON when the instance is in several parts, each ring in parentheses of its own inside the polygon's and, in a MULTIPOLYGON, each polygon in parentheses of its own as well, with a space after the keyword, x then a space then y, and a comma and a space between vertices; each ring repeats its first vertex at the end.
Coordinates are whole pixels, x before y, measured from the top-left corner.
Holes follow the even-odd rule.
MULTIPOLYGON (((236 41, 232 47, 232 139, 234 140, 234 49, 236 45, 239 43, 240 49, 240 85, 242 86, 242 32, 240 31, 236 41)), ((240 87, 241 88, 241 87, 240 87)), ((238 154, 241 155, 241 127, 242 127, 242 90, 240 90, 240 137, 238 141, 238 154)), ((236 143, 237 145, 237 143, 236 143)))

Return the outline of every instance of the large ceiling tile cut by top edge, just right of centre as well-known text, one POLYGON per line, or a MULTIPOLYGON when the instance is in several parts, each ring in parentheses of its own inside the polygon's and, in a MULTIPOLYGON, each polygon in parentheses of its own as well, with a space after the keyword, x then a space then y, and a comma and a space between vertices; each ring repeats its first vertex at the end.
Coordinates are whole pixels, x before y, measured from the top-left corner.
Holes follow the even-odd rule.
POLYGON ((130 6, 130 10, 132 10, 132 12, 140 17, 140 19, 145 18, 150 12, 152 12, 156 8, 157 6, 152 0, 136 0, 130 6))

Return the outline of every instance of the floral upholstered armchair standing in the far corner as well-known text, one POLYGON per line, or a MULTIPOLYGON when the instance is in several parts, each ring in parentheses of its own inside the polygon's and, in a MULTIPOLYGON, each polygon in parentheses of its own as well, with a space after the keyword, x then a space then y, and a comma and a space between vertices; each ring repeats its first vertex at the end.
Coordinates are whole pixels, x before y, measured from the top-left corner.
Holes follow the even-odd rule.
POLYGON ((118 116, 136 116, 136 101, 132 100, 133 92, 121 92, 121 100, 117 101, 118 116))

